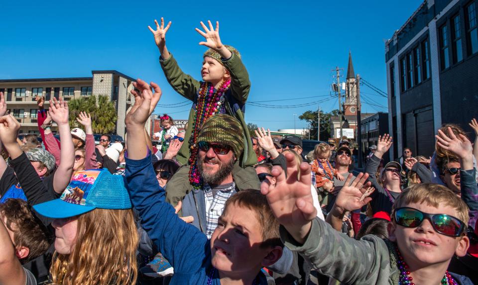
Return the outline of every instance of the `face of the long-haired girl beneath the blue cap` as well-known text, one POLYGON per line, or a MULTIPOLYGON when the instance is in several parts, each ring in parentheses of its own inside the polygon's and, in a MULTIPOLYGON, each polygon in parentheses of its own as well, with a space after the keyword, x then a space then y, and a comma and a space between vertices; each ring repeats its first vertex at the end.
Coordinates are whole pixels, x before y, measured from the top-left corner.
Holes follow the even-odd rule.
POLYGON ((70 254, 76 243, 78 217, 54 219, 51 225, 55 229, 55 250, 60 254, 70 254))

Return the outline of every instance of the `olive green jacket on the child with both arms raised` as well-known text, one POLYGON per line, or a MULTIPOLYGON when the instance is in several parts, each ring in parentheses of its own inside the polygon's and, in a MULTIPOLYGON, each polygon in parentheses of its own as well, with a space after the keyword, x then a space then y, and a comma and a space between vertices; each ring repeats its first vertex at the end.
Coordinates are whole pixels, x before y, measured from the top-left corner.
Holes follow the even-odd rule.
MULTIPOLYGON (((244 143, 244 152, 242 157, 239 158, 239 165, 242 168, 253 166, 257 163, 257 157, 252 148, 252 141, 244 121, 245 101, 247 100, 250 90, 249 75, 240 58, 234 53, 231 58, 223 60, 222 62, 231 74, 231 87, 224 95, 226 96, 226 112, 239 120, 244 133, 244 141, 247 142, 244 143)), ((183 97, 193 101, 193 106, 189 111, 188 128, 184 136, 185 143, 177 155, 178 162, 181 165, 186 165, 190 155, 189 140, 193 129, 196 101, 201 82, 182 72, 172 54, 166 60, 159 58, 159 63, 171 87, 183 97)))

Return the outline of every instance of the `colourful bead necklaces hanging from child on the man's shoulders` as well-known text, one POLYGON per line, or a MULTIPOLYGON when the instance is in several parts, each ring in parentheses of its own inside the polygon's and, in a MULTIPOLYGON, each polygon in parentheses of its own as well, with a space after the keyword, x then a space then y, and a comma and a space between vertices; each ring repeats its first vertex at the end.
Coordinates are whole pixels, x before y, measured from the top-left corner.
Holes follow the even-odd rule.
POLYGON ((223 81, 221 87, 214 92, 214 86, 210 82, 202 82, 199 90, 198 99, 196 103, 196 112, 194 113, 193 130, 191 139, 189 141, 190 153, 189 156, 189 182, 194 189, 200 189, 201 175, 196 167, 196 158, 199 148, 197 146, 199 131, 203 123, 210 117, 214 116, 216 112, 221 111, 221 97, 225 94, 231 86, 231 79, 223 81))

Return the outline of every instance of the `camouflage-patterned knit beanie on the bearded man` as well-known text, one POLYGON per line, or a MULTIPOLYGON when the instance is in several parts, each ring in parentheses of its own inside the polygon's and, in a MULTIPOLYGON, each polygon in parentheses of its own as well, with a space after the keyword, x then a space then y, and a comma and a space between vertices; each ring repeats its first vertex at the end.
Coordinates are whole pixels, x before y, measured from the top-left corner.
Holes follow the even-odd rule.
POLYGON ((244 150, 244 134, 239 121, 230 115, 217 114, 204 122, 197 142, 220 143, 232 147, 239 158, 244 150))

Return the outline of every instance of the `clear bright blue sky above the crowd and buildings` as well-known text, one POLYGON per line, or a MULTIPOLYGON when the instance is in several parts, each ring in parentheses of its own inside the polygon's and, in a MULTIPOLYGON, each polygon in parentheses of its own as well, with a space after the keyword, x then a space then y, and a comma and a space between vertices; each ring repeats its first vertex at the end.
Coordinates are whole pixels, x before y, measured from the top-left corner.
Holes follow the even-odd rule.
MULTIPOLYGON (((166 82, 148 25, 161 16, 173 23, 166 44, 186 73, 200 79, 202 37, 199 21, 220 22, 223 43, 242 55, 252 83, 248 101, 297 105, 319 99, 321 109, 337 108, 330 97, 331 69, 347 70, 349 50, 355 72, 386 91, 384 41, 421 0, 390 1, 3 1, 0 22, 0 79, 88 77, 92 70, 115 69, 154 81, 163 90, 160 104, 185 99, 166 82), (318 96, 317 98, 294 99, 318 96), (294 99, 271 101, 279 99, 294 99)), ((345 79, 345 76, 342 78, 345 79)), ((387 100, 361 87, 377 105, 387 100)), ((187 119, 190 105, 157 107, 187 119)), ((246 106, 245 119, 259 126, 293 128, 296 108, 246 106)), ((386 109, 364 103, 362 112, 386 109)), ((297 128, 306 127, 296 120, 297 128)))

